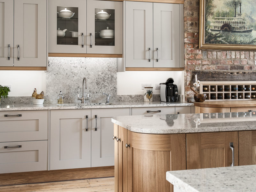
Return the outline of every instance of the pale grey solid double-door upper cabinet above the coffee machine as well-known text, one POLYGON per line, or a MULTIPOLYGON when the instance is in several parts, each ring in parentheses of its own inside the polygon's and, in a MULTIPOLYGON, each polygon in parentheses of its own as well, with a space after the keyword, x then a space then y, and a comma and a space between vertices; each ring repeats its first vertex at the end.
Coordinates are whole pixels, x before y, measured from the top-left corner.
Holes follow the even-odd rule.
MULTIPOLYGON (((179 4, 125 2, 125 66, 180 68, 179 4), (153 11, 154 10, 154 11, 153 11)), ((184 38, 182 39, 184 43, 184 38)))

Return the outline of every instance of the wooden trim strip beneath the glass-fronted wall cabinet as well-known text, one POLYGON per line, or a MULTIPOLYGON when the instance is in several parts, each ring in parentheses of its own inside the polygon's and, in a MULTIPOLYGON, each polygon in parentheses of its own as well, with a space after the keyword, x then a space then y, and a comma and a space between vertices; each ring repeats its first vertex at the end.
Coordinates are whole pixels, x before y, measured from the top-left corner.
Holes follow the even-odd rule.
POLYGON ((49 57, 113 57, 122 58, 123 54, 91 54, 91 53, 48 53, 49 57))

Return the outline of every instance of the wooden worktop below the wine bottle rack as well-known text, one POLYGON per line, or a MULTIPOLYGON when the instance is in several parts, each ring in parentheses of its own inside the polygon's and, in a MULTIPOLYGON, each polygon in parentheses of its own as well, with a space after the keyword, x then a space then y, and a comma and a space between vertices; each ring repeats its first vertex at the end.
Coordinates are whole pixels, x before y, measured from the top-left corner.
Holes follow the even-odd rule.
POLYGON ((242 101, 204 101, 204 102, 195 102, 197 107, 256 107, 255 100, 242 100, 242 101))

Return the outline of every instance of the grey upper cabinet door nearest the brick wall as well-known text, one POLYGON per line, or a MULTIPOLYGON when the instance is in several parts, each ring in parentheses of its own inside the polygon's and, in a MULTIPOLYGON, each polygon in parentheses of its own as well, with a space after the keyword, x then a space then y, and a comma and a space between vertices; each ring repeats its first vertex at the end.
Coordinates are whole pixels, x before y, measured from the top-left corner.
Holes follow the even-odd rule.
MULTIPOLYGON (((179 68, 180 67, 179 4, 153 3, 153 8, 154 8, 154 14, 153 14, 154 67, 179 68)), ((183 25, 183 23, 181 24, 183 25)))

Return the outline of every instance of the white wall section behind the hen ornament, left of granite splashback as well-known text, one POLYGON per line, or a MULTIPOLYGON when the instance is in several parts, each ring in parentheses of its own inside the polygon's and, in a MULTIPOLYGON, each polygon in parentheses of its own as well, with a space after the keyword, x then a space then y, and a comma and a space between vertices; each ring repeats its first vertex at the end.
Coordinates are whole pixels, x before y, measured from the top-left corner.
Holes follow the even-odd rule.
POLYGON ((46 75, 44 71, 0 71, 0 84, 11 85, 8 96, 31 96, 34 88, 37 93, 45 92, 46 75))

